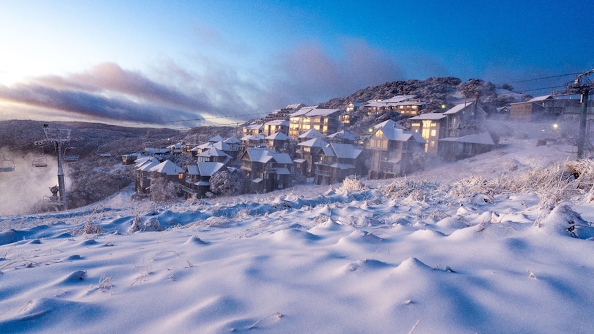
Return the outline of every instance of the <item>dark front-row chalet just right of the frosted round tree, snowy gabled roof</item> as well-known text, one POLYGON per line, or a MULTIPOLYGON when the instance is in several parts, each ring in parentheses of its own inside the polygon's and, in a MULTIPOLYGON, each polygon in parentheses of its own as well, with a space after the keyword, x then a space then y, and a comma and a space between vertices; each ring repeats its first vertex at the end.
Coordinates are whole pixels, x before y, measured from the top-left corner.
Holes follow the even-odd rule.
POLYGON ((286 153, 272 149, 250 148, 241 155, 241 169, 254 192, 267 192, 289 187, 293 161, 286 153))

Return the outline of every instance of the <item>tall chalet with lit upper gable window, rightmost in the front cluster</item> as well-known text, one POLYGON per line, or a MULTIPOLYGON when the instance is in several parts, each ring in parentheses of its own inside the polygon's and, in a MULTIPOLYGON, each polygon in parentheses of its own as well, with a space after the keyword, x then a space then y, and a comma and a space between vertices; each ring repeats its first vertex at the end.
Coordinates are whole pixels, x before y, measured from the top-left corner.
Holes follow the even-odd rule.
POLYGON ((374 127, 369 137, 369 178, 394 178, 414 171, 415 154, 424 154, 426 141, 388 120, 374 127))

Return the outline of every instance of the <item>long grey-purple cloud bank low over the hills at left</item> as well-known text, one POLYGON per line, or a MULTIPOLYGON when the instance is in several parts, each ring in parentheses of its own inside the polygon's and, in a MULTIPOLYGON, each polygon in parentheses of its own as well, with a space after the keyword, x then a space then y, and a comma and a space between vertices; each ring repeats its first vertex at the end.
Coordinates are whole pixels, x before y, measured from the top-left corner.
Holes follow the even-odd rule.
POLYGON ((242 113, 253 111, 238 112, 237 106, 246 103, 222 89, 233 90, 237 84, 214 79, 216 76, 192 76, 178 68, 174 78, 164 80, 171 84, 165 85, 115 63, 102 63, 86 72, 0 86, 0 101, 66 112, 78 119, 87 116, 92 120, 150 124, 192 120, 186 126, 237 121, 242 113), (185 83, 175 85, 179 78, 185 83))

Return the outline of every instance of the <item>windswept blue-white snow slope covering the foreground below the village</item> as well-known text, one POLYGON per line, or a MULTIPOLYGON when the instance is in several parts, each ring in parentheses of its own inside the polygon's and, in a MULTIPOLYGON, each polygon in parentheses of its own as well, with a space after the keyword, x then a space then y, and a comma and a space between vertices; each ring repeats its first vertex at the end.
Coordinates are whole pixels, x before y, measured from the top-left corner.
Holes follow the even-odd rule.
POLYGON ((407 182, 0 217, 0 333, 593 333, 587 196, 452 191, 575 156, 522 145, 407 182))

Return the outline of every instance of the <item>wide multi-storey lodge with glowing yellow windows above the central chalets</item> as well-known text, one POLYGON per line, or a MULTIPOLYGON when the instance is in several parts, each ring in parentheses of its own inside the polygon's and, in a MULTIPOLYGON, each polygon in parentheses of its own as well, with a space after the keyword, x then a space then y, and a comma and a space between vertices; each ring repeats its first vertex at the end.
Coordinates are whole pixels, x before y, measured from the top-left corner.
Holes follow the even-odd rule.
POLYGON ((340 109, 303 107, 289 115, 289 136, 298 138, 301 134, 316 129, 324 136, 338 131, 340 109))

